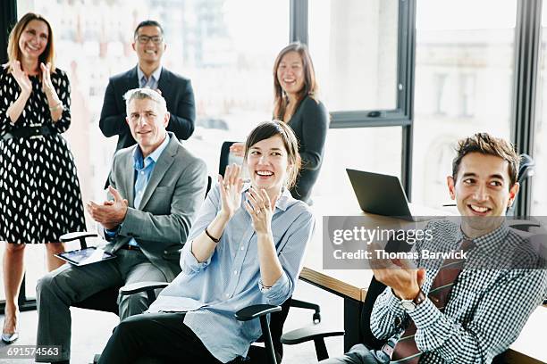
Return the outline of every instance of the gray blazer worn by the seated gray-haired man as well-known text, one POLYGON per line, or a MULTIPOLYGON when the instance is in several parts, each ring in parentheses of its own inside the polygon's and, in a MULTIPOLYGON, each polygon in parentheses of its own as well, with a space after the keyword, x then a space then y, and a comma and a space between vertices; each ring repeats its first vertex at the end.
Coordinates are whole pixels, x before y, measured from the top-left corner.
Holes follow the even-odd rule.
POLYGON ((148 260, 171 281, 181 271, 181 249, 206 195, 207 170, 204 161, 168 133, 171 139, 157 160, 140 206, 133 203, 133 151, 138 145, 114 155, 109 182, 127 199, 129 209, 106 250, 116 252, 133 237, 148 260))

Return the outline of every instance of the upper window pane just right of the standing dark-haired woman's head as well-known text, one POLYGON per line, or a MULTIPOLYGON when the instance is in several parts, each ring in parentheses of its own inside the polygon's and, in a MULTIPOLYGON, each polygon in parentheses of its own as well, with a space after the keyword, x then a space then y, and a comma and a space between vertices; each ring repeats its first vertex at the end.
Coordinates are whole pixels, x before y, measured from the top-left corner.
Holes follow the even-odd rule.
POLYGON ((332 112, 397 107, 398 0, 309 2, 309 47, 332 112))

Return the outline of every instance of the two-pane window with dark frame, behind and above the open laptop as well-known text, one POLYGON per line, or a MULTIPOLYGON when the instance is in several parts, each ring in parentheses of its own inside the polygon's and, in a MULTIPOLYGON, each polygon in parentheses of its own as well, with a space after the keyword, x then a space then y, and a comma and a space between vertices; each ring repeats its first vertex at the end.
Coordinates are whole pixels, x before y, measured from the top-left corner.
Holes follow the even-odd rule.
POLYGON ((309 50, 335 127, 327 136, 315 195, 355 199, 346 168, 401 177, 402 128, 385 125, 388 119, 398 118, 401 124, 395 125, 409 120, 402 110, 406 80, 400 71, 407 59, 398 58, 406 41, 400 38, 405 6, 400 0, 308 2, 309 50), (336 128, 346 120, 357 128, 336 128), (373 120, 382 128, 365 128, 373 120))

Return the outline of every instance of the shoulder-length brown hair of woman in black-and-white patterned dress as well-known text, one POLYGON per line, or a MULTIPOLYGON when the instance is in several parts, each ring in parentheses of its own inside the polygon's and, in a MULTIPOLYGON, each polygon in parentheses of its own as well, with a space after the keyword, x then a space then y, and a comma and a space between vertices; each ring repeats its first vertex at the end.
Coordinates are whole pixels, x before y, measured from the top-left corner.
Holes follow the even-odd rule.
MULTIPOLYGON (((38 57, 38 62, 42 62, 44 64, 47 64, 48 62, 51 63, 51 72, 55 72, 55 44, 54 44, 54 36, 53 36, 53 30, 51 29, 51 24, 49 24, 49 21, 46 21, 46 19, 35 12, 27 12, 22 16, 22 18, 17 21, 17 24, 13 27, 12 31, 10 32, 10 37, 8 40, 8 60, 9 62, 13 61, 19 61, 21 62, 21 49, 19 49, 19 38, 21 37, 21 34, 25 28, 27 28, 27 25, 29 25, 30 21, 44 21, 47 26, 47 45, 46 49, 44 49, 44 52, 40 54, 38 57)), ((9 70, 11 70, 12 67, 10 65, 9 70)), ((41 72, 41 69, 38 67, 38 71, 41 72)))

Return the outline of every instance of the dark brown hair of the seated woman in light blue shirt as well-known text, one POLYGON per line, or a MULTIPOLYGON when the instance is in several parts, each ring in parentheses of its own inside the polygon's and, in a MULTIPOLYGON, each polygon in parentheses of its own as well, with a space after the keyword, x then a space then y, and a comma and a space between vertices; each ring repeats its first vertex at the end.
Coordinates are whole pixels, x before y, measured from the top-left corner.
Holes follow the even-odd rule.
POLYGON ((292 168, 289 170, 289 178, 287 178, 286 186, 290 188, 294 186, 300 170, 300 154, 299 154, 299 142, 294 135, 292 129, 282 121, 272 120, 265 121, 258 124, 257 128, 254 128, 247 137, 245 142, 245 157, 244 161, 247 161, 248 150, 251 146, 256 145, 261 140, 268 139, 272 136, 281 136, 283 145, 287 150, 287 158, 292 168))

